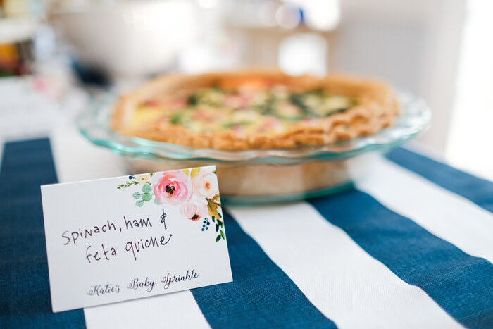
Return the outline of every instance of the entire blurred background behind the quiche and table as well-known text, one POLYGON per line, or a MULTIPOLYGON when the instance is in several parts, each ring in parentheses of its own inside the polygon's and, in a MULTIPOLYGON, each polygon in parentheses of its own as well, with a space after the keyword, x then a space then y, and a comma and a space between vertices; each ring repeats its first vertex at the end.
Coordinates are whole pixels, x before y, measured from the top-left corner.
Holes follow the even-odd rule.
POLYGON ((423 97, 420 142, 493 179, 492 13, 491 0, 0 0, 0 139, 161 73, 342 72, 423 97))

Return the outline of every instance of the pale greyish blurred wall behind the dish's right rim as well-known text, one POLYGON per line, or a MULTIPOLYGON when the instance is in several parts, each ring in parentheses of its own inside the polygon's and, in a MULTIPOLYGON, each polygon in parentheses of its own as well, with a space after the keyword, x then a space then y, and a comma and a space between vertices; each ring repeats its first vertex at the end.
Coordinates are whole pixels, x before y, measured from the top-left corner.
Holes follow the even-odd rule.
POLYGON ((382 77, 424 97, 432 126, 420 139, 444 151, 465 0, 341 0, 336 70, 382 77))

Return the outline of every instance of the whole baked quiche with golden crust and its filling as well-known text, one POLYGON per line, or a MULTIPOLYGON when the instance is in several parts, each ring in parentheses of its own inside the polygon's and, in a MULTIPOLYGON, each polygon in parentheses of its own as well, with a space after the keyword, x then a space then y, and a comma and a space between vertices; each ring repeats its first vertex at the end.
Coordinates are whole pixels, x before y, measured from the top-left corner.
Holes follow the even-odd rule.
POLYGON ((370 135, 398 113, 385 82, 245 70, 157 77, 118 99, 111 128, 189 147, 286 149, 370 135))

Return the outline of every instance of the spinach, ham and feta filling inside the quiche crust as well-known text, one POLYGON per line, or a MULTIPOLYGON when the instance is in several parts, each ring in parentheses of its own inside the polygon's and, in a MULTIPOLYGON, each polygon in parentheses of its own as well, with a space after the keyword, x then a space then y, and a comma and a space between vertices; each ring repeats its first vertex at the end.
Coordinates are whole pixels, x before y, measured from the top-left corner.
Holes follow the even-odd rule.
POLYGON ((354 98, 322 89, 293 92, 285 85, 254 90, 202 87, 189 94, 140 103, 132 128, 157 125, 166 129, 175 125, 197 134, 228 130, 238 136, 274 135, 297 123, 309 125, 356 105, 354 98))

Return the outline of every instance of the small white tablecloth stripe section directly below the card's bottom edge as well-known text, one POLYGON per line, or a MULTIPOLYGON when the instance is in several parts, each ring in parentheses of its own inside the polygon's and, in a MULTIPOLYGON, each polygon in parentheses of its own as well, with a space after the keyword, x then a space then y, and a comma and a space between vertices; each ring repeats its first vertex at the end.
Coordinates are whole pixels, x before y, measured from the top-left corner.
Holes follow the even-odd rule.
POLYGON ((84 315, 88 329, 210 328, 189 290, 89 307, 84 315))

